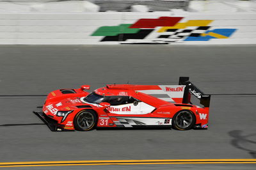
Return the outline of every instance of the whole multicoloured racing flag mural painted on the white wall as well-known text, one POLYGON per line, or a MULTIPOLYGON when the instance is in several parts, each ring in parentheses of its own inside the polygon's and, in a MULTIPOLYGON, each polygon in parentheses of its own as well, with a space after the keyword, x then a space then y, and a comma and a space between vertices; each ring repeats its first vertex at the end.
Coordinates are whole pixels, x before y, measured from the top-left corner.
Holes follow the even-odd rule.
POLYGON ((158 19, 140 19, 134 24, 102 26, 92 36, 104 36, 100 42, 127 42, 127 40, 143 42, 150 37, 152 43, 174 43, 229 38, 236 31, 236 29, 211 29, 209 24, 213 20, 180 22, 182 19, 183 17, 159 17, 158 19))

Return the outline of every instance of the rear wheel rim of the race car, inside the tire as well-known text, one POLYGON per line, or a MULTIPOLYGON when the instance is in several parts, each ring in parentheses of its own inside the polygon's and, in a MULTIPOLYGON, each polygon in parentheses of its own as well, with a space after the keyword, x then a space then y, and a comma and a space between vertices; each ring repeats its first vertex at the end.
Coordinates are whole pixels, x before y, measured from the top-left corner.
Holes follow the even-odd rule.
POLYGON ((181 111, 177 114, 175 122, 179 128, 187 128, 193 122, 192 114, 188 111, 181 111))

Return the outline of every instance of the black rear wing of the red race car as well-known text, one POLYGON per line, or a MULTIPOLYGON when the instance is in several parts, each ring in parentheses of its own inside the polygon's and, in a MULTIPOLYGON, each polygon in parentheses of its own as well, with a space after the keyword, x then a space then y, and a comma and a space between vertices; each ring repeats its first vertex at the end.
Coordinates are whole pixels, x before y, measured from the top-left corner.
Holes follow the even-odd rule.
POLYGON ((211 95, 206 95, 200 89, 196 88, 196 86, 189 81, 189 77, 180 77, 179 85, 186 85, 182 100, 183 104, 191 103, 190 97, 194 95, 200 100, 200 104, 204 105, 204 107, 210 106, 211 95))

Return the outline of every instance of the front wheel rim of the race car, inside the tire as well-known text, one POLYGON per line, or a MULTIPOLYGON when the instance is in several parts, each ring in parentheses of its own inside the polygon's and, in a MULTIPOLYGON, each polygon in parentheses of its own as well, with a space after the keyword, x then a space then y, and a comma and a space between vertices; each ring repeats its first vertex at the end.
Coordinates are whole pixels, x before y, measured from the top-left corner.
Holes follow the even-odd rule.
POLYGON ((80 128, 90 128, 94 124, 94 117, 92 112, 81 112, 77 118, 77 125, 80 128))

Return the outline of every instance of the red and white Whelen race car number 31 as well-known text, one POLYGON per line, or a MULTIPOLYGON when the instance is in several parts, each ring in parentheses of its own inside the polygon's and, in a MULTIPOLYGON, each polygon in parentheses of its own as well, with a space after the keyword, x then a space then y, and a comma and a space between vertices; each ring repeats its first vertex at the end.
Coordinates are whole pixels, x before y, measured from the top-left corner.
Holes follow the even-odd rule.
POLYGON ((172 127, 207 129, 211 95, 180 77, 179 85, 108 84, 87 90, 58 89, 34 111, 52 131, 88 131, 100 127, 172 127), (199 99, 198 105, 191 97, 199 99), (41 109, 42 108, 42 109, 41 109))

